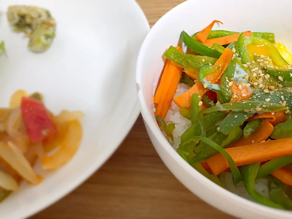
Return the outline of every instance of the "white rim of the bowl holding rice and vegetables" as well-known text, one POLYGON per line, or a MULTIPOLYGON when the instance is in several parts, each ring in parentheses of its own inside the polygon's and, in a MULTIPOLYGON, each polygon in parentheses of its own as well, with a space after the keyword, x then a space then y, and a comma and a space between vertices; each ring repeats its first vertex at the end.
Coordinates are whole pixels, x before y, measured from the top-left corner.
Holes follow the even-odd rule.
MULTIPOLYGON (((251 200, 245 199, 241 196, 238 196, 235 193, 232 193, 228 191, 227 189, 222 188, 221 186, 218 186, 216 183, 212 182, 211 180, 204 177, 201 173, 199 173, 197 170, 195 170, 191 165, 189 165, 169 144, 169 142, 166 140, 164 135, 162 134, 161 130, 159 129, 157 123, 153 119, 152 113, 150 110, 148 110, 148 106, 146 103, 146 99, 143 92, 143 79, 142 79, 142 63, 144 60, 145 52, 148 50, 148 45, 151 43, 151 35, 155 32, 159 31, 159 26, 161 26, 162 23, 164 23, 167 19, 172 17, 176 11, 182 10, 187 8, 187 5, 194 4, 194 2, 198 2, 197 0, 188 0, 185 2, 182 2, 181 4, 177 5, 176 7, 172 8, 170 11, 165 13, 151 28, 150 32, 145 37, 142 46, 139 51, 139 55, 137 58, 137 66, 136 66, 136 87, 137 87, 137 93, 138 93, 138 99, 140 102, 140 110, 142 117, 144 119, 144 122, 147 123, 149 126, 152 134, 154 135, 155 139, 159 142, 159 147, 162 147, 168 155, 177 161, 177 163, 185 169, 189 174, 198 180, 203 185, 207 186, 210 190, 217 193, 220 196, 224 196, 225 198, 237 203, 240 205, 243 209, 247 209, 249 211, 255 212, 257 214, 263 215, 263 216, 273 216, 273 217, 283 217, 283 218, 291 218, 292 217, 292 211, 288 210, 280 210, 272 207, 267 207, 262 204, 253 202, 251 200)), ((150 47, 151 48, 151 47, 150 47)), ((177 178, 177 177, 176 177, 177 178)), ((177 178, 179 179, 179 178, 177 178)), ((179 179, 180 181, 180 179, 179 179)), ((181 181, 180 181, 181 182, 181 181)), ((181 182, 184 184, 183 182, 181 182)), ((212 204, 213 207, 216 207, 212 204)), ((220 208, 218 208, 221 210, 220 208)), ((228 212, 229 214, 232 214, 231 212, 228 212)), ((235 214, 233 214, 235 215, 235 214)), ((237 216, 237 215, 235 215, 237 216)))

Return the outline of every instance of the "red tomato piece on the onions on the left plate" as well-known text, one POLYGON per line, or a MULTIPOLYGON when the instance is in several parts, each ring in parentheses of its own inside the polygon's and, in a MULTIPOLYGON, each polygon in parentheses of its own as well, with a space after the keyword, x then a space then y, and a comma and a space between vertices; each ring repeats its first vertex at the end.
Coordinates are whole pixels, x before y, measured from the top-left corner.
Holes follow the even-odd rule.
POLYGON ((23 97, 20 109, 31 142, 40 142, 57 133, 49 112, 40 101, 31 97, 23 97))

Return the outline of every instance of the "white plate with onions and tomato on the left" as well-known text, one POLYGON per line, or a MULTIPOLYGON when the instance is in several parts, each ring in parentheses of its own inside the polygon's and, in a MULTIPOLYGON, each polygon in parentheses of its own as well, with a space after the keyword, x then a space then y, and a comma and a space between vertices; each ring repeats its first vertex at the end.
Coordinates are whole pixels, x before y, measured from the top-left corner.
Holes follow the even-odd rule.
POLYGON ((76 188, 116 150, 139 115, 135 64, 149 31, 134 0, 2 0, 0 40, 8 57, 0 58, 0 106, 17 89, 39 91, 54 113, 85 112, 84 137, 75 157, 47 174, 38 186, 25 183, 0 204, 1 218, 28 217, 76 188), (43 54, 27 49, 28 39, 12 33, 9 5, 49 9, 57 21, 56 38, 43 54))

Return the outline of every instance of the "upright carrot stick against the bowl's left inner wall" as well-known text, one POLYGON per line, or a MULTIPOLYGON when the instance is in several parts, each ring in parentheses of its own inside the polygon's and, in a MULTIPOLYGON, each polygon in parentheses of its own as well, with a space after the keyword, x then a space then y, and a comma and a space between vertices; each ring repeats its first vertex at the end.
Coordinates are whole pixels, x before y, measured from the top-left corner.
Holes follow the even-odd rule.
MULTIPOLYGON (((180 47, 176 47, 176 49, 183 52, 180 47)), ((156 115, 160 116, 162 119, 165 118, 169 110, 173 96, 175 95, 177 86, 179 85, 179 81, 182 76, 182 71, 183 68, 178 67, 173 62, 169 64, 165 83, 162 84, 162 90, 160 93, 160 98, 156 109, 156 115)))

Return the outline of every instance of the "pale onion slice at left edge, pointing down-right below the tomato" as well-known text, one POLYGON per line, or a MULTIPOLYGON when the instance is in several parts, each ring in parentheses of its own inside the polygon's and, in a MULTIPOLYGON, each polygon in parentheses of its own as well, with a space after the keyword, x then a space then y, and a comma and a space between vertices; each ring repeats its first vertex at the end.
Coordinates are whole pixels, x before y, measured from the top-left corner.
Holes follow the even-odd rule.
POLYGON ((0 156, 27 181, 33 184, 41 182, 42 179, 35 174, 20 149, 12 142, 0 142, 0 156))

